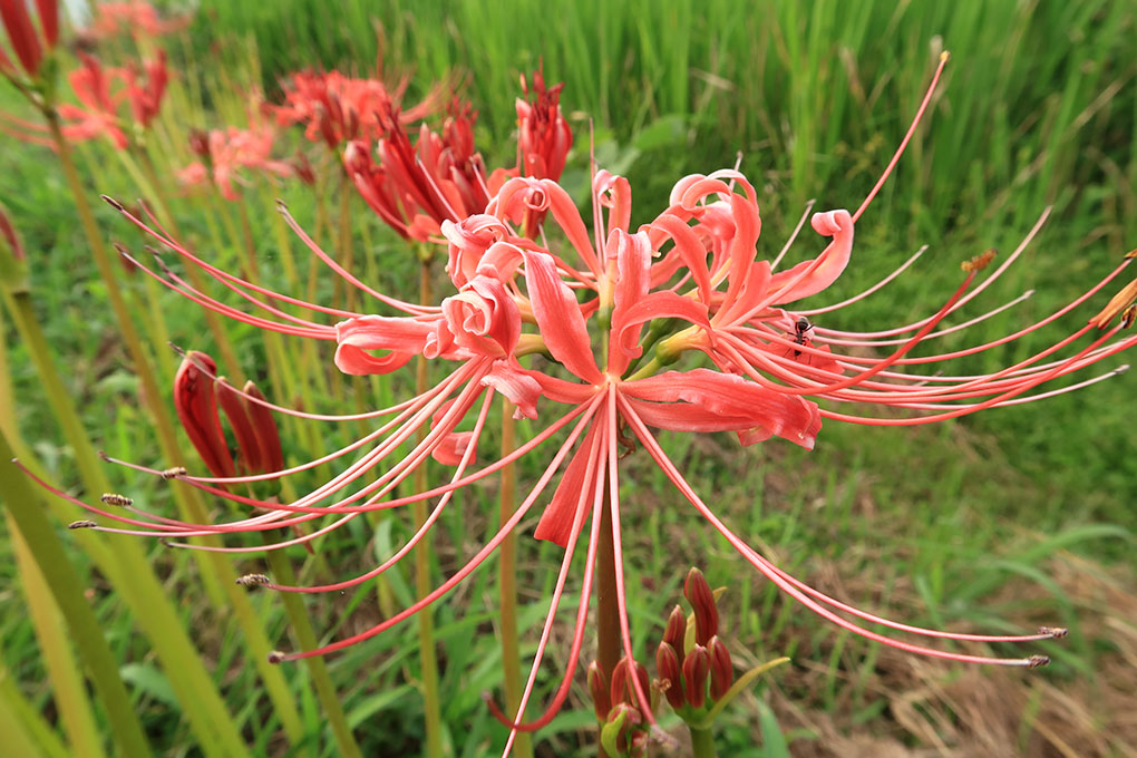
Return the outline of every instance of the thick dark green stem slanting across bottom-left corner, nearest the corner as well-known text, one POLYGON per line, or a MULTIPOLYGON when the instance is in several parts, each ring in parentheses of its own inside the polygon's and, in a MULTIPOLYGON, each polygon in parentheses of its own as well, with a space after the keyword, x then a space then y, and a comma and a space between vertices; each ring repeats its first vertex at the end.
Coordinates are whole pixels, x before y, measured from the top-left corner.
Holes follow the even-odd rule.
POLYGON ((11 458, 8 439, 0 435, 0 461, 3 461, 0 464, 0 495, 55 593, 75 647, 91 673, 118 749, 125 756, 148 756, 150 749, 118 676, 118 663, 99 633, 99 619, 83 597, 83 582, 67 559, 35 491, 19 469, 8 463, 11 458))

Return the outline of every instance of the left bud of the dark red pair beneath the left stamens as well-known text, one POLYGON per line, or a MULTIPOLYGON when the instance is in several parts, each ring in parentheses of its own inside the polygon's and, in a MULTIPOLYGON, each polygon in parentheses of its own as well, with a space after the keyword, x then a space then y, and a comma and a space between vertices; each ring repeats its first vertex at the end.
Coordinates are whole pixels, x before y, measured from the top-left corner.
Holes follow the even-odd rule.
POLYGON ((209 356, 197 351, 188 352, 174 377, 174 409, 190 442, 214 476, 233 476, 236 467, 221 431, 217 398, 210 376, 216 370, 217 365, 209 356))

